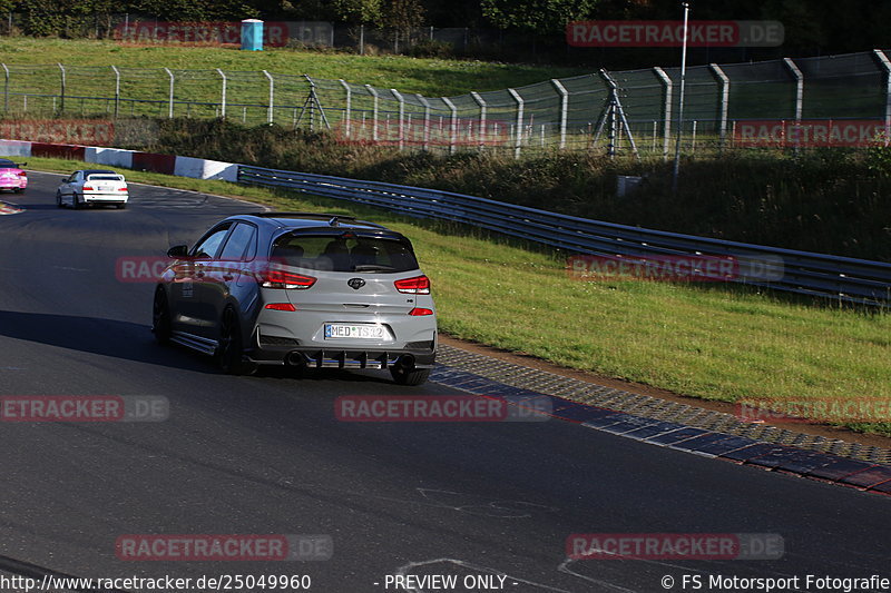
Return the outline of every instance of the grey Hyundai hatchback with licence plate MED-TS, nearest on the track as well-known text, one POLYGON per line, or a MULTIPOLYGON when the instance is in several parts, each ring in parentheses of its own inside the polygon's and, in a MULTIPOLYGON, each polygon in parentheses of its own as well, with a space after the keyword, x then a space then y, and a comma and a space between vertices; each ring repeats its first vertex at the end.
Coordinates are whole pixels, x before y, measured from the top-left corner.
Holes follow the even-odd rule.
POLYGON ((161 344, 213 355, 231 374, 268 364, 389 369, 403 385, 430 375, 430 280, 399 233, 340 215, 241 215, 167 255, 153 307, 161 344))

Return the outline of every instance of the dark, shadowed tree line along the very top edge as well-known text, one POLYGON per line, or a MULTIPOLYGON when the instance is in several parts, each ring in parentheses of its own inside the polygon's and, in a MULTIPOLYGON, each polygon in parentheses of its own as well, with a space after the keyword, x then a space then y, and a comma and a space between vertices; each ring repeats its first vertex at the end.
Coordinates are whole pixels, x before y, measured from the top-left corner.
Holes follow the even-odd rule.
MULTIPOLYGON (((697 20, 779 20, 785 47, 813 52, 891 46, 889 0, 692 0, 697 20)), ((125 12, 164 20, 326 20, 352 24, 479 27, 558 37, 567 20, 681 18, 667 0, 0 0, 26 34, 65 34, 67 24, 110 22, 125 12)))

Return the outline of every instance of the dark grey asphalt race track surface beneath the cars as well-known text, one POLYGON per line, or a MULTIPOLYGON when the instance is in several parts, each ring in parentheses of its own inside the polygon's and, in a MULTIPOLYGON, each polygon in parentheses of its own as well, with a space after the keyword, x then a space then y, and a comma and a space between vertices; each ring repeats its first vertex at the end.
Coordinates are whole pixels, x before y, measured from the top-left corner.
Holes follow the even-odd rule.
POLYGON ((231 377, 161 348, 153 285, 119 281, 117 259, 163 255, 257 207, 131 186, 126 210, 58 209, 60 178, 32 174, 25 194, 0 196, 26 209, 0 216, 0 395, 165 396, 169 418, 0 423, 4 575, 305 574, 311 591, 334 593, 395 591, 395 574, 500 574, 518 593, 665 591, 665 575, 682 591, 684 574, 703 591, 709 574, 891 576, 885 496, 560 421, 342 423, 337 396, 458 392, 380 372, 231 377), (574 533, 663 532, 780 534, 785 554, 566 560, 574 533), (123 561, 126 534, 326 535, 333 556, 123 561))

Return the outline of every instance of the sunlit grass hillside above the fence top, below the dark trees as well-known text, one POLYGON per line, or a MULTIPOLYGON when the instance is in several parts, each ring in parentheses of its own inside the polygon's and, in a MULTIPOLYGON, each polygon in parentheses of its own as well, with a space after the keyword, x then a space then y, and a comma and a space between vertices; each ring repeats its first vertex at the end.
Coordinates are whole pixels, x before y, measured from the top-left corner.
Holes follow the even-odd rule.
MULTIPOLYGON (((471 60, 356 56, 351 53, 266 49, 241 51, 232 47, 121 45, 111 40, 4 38, 0 55, 7 65, 102 66, 188 70, 267 70, 281 75, 310 75, 360 85, 396 88, 430 97, 471 90, 501 90, 555 77, 589 73, 590 68, 506 65, 471 60)), ((110 77, 110 75, 109 75, 110 77)), ((110 77, 114 81, 114 77, 110 77)), ((94 79, 94 85, 96 80, 94 79)), ((213 77, 207 86, 218 89, 213 77)), ((71 92, 75 93, 75 92, 71 92)))

